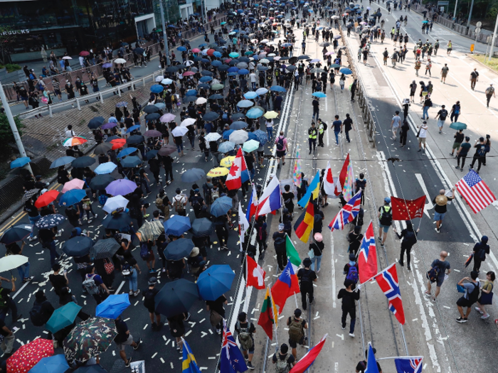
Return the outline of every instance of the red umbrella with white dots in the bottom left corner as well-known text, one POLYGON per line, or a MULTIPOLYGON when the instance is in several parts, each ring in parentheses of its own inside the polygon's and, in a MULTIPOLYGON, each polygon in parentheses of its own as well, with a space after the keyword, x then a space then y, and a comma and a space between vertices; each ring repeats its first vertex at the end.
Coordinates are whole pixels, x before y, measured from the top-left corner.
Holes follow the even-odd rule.
POLYGON ((53 340, 38 338, 19 347, 14 355, 7 359, 7 372, 27 373, 43 357, 53 355, 53 340))

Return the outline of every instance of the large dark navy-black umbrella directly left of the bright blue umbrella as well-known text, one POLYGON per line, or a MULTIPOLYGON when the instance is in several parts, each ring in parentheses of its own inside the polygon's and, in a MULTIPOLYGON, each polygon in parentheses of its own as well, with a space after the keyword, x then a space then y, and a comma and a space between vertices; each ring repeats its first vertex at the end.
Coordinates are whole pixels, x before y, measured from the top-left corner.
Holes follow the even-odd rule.
POLYGON ((156 312, 165 315, 166 318, 171 318, 189 312, 198 298, 198 290, 194 282, 186 279, 171 281, 165 283, 154 298, 156 312))

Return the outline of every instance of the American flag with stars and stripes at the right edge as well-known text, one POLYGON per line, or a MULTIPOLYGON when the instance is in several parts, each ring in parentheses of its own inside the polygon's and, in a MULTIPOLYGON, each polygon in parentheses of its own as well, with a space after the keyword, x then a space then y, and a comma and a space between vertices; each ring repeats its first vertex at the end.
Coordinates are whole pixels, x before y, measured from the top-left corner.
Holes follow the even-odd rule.
POLYGON ((474 170, 470 170, 455 186, 475 214, 497 200, 474 170))

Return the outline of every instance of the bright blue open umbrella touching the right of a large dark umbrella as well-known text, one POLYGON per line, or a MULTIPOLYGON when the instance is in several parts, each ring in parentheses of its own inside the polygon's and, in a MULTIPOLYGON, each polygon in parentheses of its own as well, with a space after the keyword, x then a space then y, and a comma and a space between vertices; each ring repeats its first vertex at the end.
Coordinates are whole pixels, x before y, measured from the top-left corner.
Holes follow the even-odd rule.
POLYGON ((210 266, 197 279, 199 296, 205 301, 216 301, 230 290, 235 274, 228 264, 210 266))

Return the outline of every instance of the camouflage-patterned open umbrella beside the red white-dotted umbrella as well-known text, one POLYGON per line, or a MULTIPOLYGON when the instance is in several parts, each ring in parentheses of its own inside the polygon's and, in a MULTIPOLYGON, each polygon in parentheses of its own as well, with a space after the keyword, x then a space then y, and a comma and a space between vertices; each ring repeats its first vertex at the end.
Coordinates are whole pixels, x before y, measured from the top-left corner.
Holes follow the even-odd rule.
POLYGON ((116 335, 114 320, 89 318, 78 323, 63 341, 65 358, 85 362, 105 352, 116 335))

